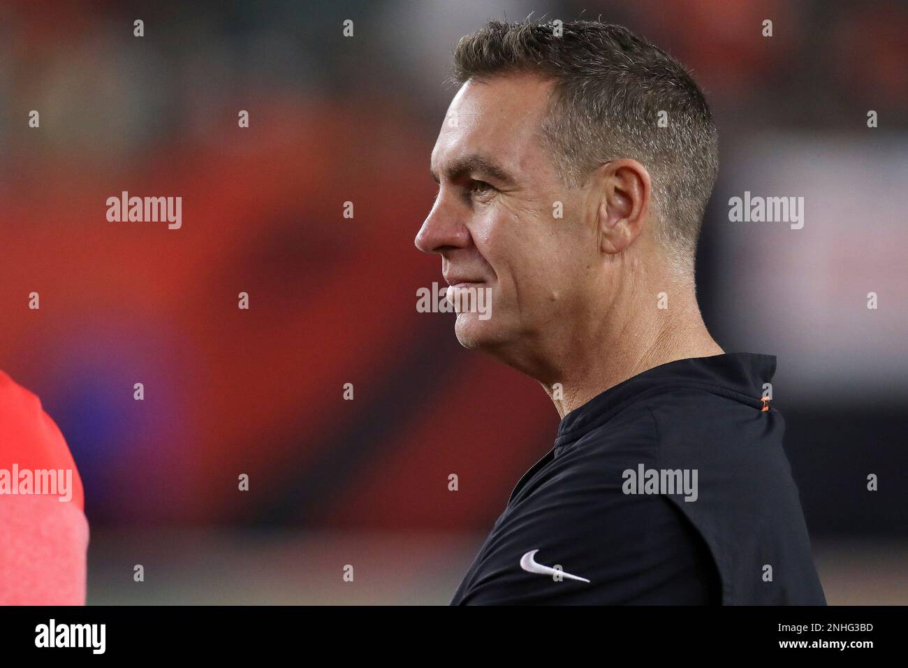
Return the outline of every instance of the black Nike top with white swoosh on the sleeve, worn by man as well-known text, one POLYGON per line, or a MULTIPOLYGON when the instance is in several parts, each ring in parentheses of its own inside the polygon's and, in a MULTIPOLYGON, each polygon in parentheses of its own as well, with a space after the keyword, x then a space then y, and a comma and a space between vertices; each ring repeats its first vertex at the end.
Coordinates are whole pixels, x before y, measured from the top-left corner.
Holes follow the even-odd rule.
POLYGON ((824 605, 774 373, 678 360, 571 411, 451 604, 824 605))

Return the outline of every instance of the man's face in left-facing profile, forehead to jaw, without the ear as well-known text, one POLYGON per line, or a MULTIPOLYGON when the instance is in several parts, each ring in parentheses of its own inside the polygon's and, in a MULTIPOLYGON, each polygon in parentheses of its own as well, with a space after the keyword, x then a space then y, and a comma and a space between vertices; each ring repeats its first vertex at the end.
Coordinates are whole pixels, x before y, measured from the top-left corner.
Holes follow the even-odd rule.
POLYGON ((586 312, 599 261, 596 203, 561 184, 540 139, 549 86, 507 75, 460 88, 432 151, 439 194, 416 237, 458 285, 449 300, 488 290, 490 317, 458 314, 460 344, 518 366, 586 312))

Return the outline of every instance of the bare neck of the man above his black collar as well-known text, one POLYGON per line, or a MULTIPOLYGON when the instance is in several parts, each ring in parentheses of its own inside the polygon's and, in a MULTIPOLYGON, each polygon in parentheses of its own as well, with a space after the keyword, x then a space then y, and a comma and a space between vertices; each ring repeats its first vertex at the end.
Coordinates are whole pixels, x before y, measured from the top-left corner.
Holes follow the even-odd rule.
POLYGON ((570 343, 559 351, 558 380, 540 381, 562 418, 597 394, 654 366, 724 353, 706 330, 693 283, 634 293, 619 297, 598 326, 571 336, 570 343), (659 292, 668 295, 665 309, 657 308, 659 292))

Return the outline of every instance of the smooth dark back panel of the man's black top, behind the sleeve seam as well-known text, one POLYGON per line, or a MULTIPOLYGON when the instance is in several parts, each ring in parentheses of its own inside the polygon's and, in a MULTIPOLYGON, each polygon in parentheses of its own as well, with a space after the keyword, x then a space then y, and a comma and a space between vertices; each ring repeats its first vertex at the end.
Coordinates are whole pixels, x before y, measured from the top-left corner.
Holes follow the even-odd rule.
POLYGON ((775 408, 700 389, 646 402, 656 468, 696 472, 696 499, 668 494, 703 535, 725 604, 825 604, 775 408))

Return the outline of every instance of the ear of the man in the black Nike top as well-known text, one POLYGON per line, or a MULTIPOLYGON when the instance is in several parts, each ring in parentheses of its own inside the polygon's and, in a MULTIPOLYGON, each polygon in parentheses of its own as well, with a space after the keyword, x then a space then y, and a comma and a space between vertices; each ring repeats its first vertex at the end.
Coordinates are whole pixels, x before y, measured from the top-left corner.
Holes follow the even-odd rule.
POLYGON ((649 172, 630 158, 606 163, 599 170, 599 249, 618 254, 643 231, 649 211, 649 172))

